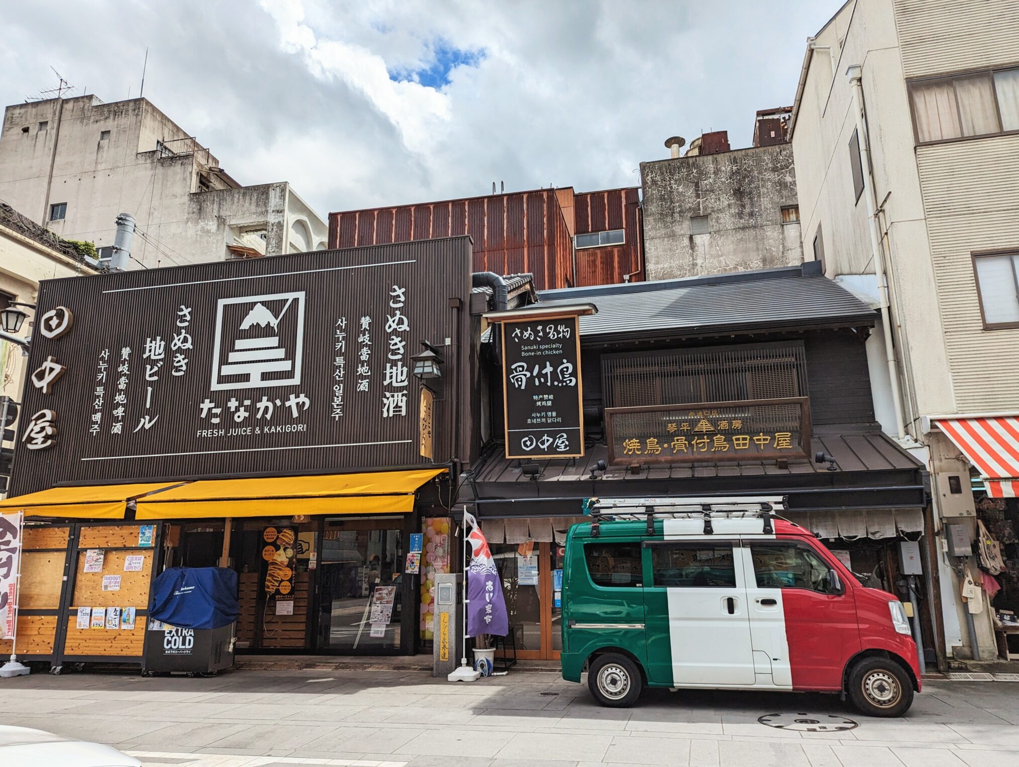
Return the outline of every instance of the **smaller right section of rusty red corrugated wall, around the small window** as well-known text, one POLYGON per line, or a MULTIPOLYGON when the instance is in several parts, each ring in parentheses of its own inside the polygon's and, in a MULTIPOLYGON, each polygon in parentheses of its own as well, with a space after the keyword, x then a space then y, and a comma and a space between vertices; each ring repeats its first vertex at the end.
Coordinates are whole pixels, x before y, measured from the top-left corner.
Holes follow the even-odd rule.
POLYGON ((576 233, 624 229, 621 245, 577 251, 577 285, 609 285, 644 279, 644 234, 637 187, 585 191, 574 196, 576 233))

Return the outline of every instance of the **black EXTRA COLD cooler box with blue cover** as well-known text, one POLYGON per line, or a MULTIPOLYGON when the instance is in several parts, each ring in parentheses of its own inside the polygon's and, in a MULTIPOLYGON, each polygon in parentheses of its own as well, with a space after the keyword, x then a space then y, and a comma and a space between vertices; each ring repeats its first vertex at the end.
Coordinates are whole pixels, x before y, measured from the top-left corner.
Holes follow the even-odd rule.
POLYGON ((153 585, 142 671, 215 673, 232 667, 236 595, 237 574, 225 567, 161 572, 153 585))

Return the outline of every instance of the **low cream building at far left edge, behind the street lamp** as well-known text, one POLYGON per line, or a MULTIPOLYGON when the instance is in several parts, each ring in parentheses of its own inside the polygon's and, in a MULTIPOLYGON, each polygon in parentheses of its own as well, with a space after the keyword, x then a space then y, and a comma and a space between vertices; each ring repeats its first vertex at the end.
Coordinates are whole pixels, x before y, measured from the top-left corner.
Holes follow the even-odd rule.
MULTIPOLYGON (((0 201, 0 310, 14 302, 35 304, 40 280, 97 271, 70 243, 0 201)), ((18 336, 29 338, 35 312, 26 307, 21 309, 29 317, 18 336)), ((26 359, 21 346, 0 339, 0 394, 20 401, 26 359)), ((6 444, 0 447, 0 476, 8 471, 9 450, 6 444)), ((0 494, 5 488, 5 484, 0 486, 0 494)))

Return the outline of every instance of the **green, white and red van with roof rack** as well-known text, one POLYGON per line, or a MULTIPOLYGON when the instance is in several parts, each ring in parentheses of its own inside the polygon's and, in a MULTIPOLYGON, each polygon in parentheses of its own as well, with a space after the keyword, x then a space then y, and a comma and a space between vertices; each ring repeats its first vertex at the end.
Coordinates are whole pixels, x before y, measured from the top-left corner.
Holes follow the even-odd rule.
POLYGON ((644 687, 848 695, 899 716, 920 690, 902 603, 864 588, 783 498, 591 499, 567 537, 562 676, 604 706, 644 687))

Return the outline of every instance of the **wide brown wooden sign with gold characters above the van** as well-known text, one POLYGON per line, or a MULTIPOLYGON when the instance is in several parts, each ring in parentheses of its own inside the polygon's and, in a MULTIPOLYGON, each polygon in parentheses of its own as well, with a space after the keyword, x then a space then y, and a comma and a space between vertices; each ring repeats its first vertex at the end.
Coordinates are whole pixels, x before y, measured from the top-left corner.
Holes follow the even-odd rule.
POLYGON ((608 407, 612 463, 714 463, 802 458, 810 447, 806 397, 608 407))

